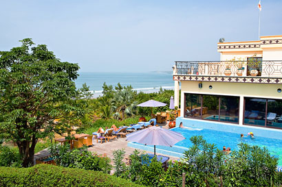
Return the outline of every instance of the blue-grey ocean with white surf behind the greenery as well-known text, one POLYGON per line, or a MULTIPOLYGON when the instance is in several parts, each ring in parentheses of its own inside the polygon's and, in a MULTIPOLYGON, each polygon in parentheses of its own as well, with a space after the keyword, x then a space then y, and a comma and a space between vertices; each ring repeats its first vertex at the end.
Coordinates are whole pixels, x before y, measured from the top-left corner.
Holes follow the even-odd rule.
POLYGON ((78 73, 76 88, 81 88, 84 83, 89 86, 94 98, 102 95, 102 84, 113 85, 120 83, 122 86, 131 85, 138 92, 158 92, 160 88, 174 89, 173 75, 171 72, 148 72, 148 73, 78 73))

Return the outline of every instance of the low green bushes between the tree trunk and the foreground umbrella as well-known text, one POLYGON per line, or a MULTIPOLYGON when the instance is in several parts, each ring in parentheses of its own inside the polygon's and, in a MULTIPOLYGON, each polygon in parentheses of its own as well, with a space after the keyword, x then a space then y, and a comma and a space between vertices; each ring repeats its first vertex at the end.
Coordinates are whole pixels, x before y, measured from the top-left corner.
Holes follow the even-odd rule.
POLYGON ((70 150, 68 145, 54 144, 50 146, 49 150, 59 166, 102 171, 104 173, 111 171, 111 165, 109 164, 111 160, 109 158, 93 155, 86 148, 70 150))

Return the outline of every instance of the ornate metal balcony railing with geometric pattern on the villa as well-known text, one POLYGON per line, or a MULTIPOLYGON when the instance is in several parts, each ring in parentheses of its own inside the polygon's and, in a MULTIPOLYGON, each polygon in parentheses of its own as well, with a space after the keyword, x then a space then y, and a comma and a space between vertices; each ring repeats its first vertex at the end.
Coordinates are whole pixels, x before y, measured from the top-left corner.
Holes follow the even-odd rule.
POLYGON ((282 77, 282 60, 246 61, 175 61, 176 75, 282 77))

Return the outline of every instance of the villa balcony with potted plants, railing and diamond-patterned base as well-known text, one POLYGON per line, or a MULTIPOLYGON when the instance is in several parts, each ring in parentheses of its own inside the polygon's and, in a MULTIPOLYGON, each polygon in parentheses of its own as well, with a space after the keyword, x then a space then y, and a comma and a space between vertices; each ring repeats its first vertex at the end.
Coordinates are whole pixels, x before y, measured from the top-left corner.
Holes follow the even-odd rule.
POLYGON ((176 61, 173 68, 173 79, 178 81, 282 84, 282 60, 176 61))

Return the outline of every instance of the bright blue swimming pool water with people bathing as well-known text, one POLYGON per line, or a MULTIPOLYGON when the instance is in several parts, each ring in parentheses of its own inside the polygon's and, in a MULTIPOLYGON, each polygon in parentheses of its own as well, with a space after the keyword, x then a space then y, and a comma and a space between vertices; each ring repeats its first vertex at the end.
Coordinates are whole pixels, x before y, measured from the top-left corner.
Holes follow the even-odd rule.
POLYGON ((232 150, 237 150, 237 145, 240 142, 248 143, 248 145, 258 145, 259 147, 267 147, 270 151, 270 154, 276 158, 279 158, 279 166, 282 166, 282 140, 274 139, 274 138, 263 138, 256 136, 254 134, 254 139, 251 139, 250 136, 246 137, 247 134, 244 134, 243 139, 241 140, 240 134, 238 133, 230 133, 230 132, 220 132, 210 129, 202 129, 202 130, 191 130, 185 128, 174 128, 171 129, 174 132, 181 133, 186 139, 180 142, 177 142, 173 147, 164 147, 157 146, 159 149, 165 149, 167 151, 175 151, 177 153, 184 153, 189 147, 193 144, 189 140, 192 136, 203 136, 204 139, 209 143, 215 143, 218 149, 222 149, 224 146, 230 147, 232 150))

